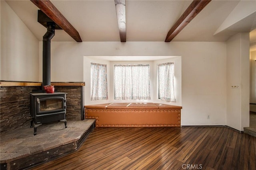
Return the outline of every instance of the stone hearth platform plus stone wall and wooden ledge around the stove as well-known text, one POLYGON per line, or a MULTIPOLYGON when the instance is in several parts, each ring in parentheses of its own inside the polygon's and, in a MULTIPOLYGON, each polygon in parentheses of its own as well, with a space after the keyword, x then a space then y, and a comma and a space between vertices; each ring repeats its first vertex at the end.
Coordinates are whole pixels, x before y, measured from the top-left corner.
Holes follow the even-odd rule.
POLYGON ((95 127, 84 120, 84 82, 52 82, 56 92, 65 92, 67 128, 63 122, 45 123, 37 135, 30 128, 32 91, 42 91, 40 82, 0 81, 0 169, 26 169, 76 151, 95 127))

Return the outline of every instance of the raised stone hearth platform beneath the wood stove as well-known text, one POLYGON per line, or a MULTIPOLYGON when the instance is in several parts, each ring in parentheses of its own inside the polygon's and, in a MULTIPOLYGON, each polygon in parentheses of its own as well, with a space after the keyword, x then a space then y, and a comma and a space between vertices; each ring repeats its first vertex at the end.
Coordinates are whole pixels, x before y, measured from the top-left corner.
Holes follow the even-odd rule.
POLYGON ((16 129, 1 135, 0 169, 25 169, 79 149, 90 132, 95 128, 95 119, 47 123, 34 129, 16 129))

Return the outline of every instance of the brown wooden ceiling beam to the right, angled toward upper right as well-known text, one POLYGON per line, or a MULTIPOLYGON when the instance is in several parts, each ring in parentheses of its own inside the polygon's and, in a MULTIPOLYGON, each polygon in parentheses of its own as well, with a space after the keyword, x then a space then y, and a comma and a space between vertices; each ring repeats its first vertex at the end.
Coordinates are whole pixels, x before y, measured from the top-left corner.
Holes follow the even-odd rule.
POLYGON ((168 32, 165 42, 170 42, 211 0, 194 0, 168 32))

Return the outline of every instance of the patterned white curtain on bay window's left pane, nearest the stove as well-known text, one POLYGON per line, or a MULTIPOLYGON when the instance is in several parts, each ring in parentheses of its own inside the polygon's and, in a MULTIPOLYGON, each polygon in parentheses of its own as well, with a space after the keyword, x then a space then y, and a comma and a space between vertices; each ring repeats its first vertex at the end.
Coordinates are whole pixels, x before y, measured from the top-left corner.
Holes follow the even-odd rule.
POLYGON ((91 63, 91 101, 108 100, 107 66, 91 63))

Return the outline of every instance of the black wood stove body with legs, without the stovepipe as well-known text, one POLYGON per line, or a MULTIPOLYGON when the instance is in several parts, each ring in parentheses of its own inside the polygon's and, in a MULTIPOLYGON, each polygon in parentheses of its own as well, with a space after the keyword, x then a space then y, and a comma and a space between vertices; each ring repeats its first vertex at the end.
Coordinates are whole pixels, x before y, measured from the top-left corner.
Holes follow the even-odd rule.
POLYGON ((63 121, 66 128, 66 93, 30 93, 30 115, 34 135, 42 123, 63 121))

